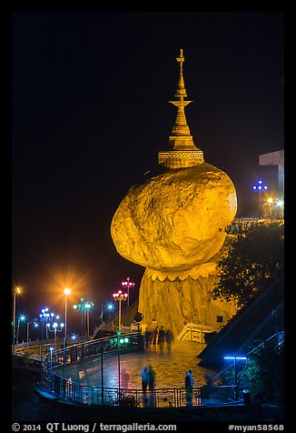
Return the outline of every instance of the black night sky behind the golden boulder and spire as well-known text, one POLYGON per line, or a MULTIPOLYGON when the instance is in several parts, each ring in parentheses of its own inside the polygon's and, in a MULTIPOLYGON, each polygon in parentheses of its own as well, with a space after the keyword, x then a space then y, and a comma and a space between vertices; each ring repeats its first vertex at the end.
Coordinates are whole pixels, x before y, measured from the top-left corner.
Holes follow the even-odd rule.
POLYGON ((283 12, 12 15, 17 314, 32 319, 44 306, 62 314, 68 286, 71 306, 93 300, 95 322, 126 277, 136 299, 144 269, 118 255, 110 225, 167 146, 180 48, 195 146, 232 178, 237 215, 246 216, 260 177, 271 193, 277 186, 277 167, 259 166, 259 155, 284 148, 283 12))

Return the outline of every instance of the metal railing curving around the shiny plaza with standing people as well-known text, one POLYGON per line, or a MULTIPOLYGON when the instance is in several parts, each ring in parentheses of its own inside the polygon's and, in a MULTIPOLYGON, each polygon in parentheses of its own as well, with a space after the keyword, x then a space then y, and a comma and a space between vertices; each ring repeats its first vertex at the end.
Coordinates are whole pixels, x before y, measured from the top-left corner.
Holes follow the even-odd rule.
MULTIPOLYGON (((143 348, 141 333, 122 334, 79 343, 48 352, 41 367, 40 385, 56 398, 79 405, 110 405, 136 408, 180 408, 187 406, 185 388, 157 388, 143 392, 142 389, 89 387, 64 378, 66 365, 81 362, 104 354, 120 356, 121 353, 143 348)), ((192 406, 217 405, 237 402, 240 390, 232 386, 192 388, 192 406)))

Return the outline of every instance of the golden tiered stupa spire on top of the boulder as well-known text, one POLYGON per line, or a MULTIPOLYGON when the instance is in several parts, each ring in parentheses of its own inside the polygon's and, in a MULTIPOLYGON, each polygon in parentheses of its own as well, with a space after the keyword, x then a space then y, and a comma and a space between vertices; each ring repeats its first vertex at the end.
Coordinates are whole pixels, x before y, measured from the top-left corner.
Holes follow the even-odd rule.
POLYGON ((178 111, 171 136, 169 137, 170 150, 160 151, 158 154, 158 164, 169 168, 197 166, 204 162, 203 152, 194 145, 185 116, 185 106, 188 106, 192 101, 184 101, 184 97, 187 97, 187 92, 183 78, 185 57, 183 56, 182 48, 176 60, 180 64, 179 80, 175 94, 178 100, 169 102, 173 106, 176 106, 178 111))

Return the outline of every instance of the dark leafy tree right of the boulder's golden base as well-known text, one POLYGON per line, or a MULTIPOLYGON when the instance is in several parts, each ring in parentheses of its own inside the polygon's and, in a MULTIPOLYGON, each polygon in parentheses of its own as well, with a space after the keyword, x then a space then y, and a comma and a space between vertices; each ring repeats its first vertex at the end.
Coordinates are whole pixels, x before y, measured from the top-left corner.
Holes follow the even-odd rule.
POLYGON ((250 227, 232 237, 218 261, 213 299, 242 307, 283 274, 284 227, 272 223, 250 227))

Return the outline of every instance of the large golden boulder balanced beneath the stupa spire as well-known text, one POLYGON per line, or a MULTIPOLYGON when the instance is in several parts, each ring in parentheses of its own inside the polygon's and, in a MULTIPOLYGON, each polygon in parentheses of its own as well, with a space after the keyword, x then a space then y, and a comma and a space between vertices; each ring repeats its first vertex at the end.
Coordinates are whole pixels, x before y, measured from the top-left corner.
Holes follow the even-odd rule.
POLYGON ((135 264, 190 269, 222 248, 236 209, 230 177, 202 163, 132 186, 113 216, 111 236, 118 253, 135 264))

